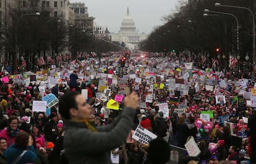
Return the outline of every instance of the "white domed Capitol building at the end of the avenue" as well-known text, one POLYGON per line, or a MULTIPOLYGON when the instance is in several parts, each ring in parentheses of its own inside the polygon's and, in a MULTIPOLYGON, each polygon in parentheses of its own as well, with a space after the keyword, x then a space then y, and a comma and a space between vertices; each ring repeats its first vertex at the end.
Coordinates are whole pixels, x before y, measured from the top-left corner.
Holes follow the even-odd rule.
POLYGON ((110 33, 111 41, 118 41, 120 44, 124 42, 125 46, 129 49, 138 49, 139 43, 147 39, 147 34, 139 34, 136 31, 134 19, 130 16, 129 8, 127 14, 122 20, 119 33, 110 33))

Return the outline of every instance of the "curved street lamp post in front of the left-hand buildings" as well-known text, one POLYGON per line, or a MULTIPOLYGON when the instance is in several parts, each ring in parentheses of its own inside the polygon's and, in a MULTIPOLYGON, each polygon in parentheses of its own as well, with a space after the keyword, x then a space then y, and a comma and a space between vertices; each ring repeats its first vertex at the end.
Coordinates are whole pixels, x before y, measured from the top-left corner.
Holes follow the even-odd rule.
POLYGON ((16 25, 15 25, 15 55, 14 55, 14 69, 15 72, 17 72, 18 67, 18 56, 19 56, 19 46, 18 46, 18 23, 20 21, 20 18, 26 16, 26 15, 40 15, 40 12, 36 12, 35 14, 23 14, 20 15, 20 17, 17 18, 16 25))

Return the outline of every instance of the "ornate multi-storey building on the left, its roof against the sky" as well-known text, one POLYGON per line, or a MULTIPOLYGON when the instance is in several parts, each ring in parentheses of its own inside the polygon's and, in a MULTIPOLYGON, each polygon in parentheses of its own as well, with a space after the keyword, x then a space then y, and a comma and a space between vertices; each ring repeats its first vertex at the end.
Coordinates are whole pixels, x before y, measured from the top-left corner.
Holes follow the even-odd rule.
POLYGON ((85 7, 84 3, 72 3, 69 4, 70 9, 74 10, 75 13, 75 27, 81 30, 93 33, 93 20, 94 17, 89 17, 87 12, 88 8, 85 7))

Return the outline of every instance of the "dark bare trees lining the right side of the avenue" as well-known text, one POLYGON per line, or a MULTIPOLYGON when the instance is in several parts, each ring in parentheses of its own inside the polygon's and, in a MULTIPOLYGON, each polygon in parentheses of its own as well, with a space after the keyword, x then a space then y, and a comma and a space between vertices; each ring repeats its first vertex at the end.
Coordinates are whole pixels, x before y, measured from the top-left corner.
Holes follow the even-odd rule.
POLYGON ((252 15, 247 10, 215 7, 215 2, 255 10, 254 0, 181 1, 179 12, 164 17, 164 25, 155 28, 140 44, 140 49, 153 52, 187 50, 191 54, 216 57, 215 50, 220 48, 221 55, 236 54, 236 21, 228 15, 203 17, 203 10, 209 9, 236 15, 239 20, 239 54, 242 60, 245 54, 252 59, 252 15))

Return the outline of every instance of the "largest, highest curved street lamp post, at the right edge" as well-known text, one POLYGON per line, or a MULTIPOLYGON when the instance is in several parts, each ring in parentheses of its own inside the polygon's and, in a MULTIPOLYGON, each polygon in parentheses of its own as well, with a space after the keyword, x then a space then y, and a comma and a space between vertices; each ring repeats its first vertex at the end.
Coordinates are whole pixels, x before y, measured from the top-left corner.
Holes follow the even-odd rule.
POLYGON ((252 57, 254 59, 254 64, 256 63, 256 57, 255 57, 255 17, 254 17, 254 12, 250 10, 247 7, 242 7, 242 6, 229 6, 229 5, 223 5, 220 3, 215 3, 216 7, 232 7, 232 8, 237 8, 237 9, 245 9, 249 10, 250 14, 252 14, 252 33, 253 33, 253 38, 252 38, 252 57))

